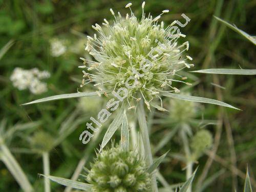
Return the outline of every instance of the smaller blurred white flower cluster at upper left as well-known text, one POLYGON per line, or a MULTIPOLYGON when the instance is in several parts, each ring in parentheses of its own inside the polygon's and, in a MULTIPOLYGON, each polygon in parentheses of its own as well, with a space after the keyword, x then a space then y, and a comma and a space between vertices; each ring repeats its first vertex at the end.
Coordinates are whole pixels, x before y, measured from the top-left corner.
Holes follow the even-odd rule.
POLYGON ((65 46, 65 41, 60 40, 58 38, 53 38, 50 40, 51 45, 51 55, 53 57, 59 57, 63 55, 67 51, 67 47, 65 46))

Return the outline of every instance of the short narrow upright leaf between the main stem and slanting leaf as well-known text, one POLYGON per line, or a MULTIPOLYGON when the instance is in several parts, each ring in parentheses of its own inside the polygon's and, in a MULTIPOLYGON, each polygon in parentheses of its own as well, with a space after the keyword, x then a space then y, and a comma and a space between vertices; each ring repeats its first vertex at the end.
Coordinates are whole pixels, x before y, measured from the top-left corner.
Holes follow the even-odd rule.
POLYGON ((125 110, 123 112, 123 122, 121 126, 121 147, 126 151, 129 150, 129 127, 125 110))

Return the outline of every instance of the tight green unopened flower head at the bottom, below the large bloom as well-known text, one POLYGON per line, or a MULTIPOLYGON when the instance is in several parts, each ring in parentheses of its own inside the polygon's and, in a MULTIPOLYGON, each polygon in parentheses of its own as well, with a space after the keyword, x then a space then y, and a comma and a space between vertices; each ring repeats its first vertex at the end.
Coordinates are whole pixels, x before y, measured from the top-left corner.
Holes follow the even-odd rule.
POLYGON ((93 185, 93 192, 151 191, 144 160, 119 146, 97 154, 86 179, 93 185))

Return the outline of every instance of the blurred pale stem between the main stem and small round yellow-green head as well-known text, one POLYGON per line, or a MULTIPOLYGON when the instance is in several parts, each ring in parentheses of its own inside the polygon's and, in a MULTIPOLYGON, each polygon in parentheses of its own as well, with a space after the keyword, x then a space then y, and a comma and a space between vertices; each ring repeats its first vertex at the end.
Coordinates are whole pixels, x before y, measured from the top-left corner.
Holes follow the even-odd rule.
MULTIPOLYGON (((181 130, 181 137, 182 137, 184 151, 186 155, 186 180, 188 180, 193 174, 193 162, 189 160, 191 153, 189 149, 187 135, 183 129, 181 130)), ((189 185, 187 192, 191 192, 191 191, 192 191, 191 185, 189 185)))

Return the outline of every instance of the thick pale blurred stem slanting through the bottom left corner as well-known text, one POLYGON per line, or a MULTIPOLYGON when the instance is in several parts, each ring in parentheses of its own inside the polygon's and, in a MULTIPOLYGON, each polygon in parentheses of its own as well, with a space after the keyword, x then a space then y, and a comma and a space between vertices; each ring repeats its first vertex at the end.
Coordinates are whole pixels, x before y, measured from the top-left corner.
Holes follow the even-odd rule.
POLYGON ((7 166, 8 170, 11 172, 12 176, 15 178, 19 186, 25 192, 34 191, 32 185, 30 184, 27 176, 23 172, 22 167, 18 164, 16 159, 13 157, 9 148, 4 144, 0 144, 0 158, 7 166))

